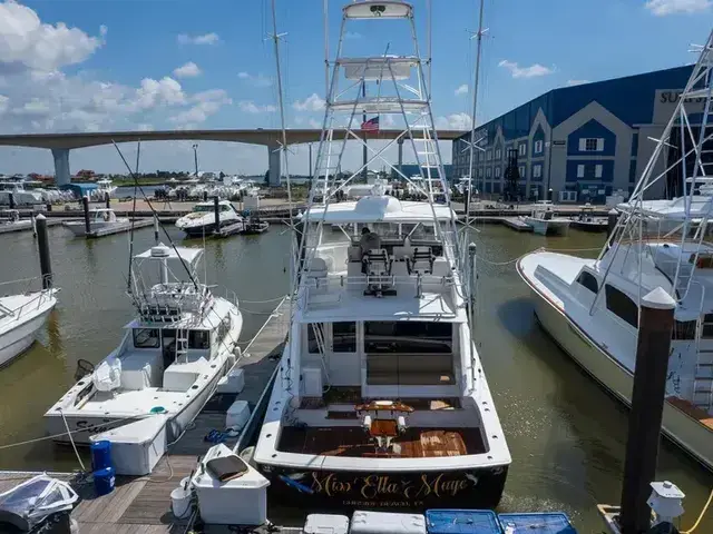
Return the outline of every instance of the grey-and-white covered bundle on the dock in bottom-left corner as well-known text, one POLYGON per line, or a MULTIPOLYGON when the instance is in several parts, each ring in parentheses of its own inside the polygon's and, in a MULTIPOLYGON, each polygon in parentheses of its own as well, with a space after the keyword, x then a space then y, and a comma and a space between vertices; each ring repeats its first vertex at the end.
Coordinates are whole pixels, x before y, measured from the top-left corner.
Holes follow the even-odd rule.
POLYGON ((79 500, 69 484, 42 474, 0 494, 0 530, 10 524, 28 532, 48 516, 68 512, 79 500))

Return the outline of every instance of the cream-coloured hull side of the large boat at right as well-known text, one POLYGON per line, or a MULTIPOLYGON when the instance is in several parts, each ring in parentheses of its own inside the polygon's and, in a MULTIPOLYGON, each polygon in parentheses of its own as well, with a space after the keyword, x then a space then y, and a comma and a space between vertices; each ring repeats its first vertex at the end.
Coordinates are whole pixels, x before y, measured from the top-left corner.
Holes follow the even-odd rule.
MULTIPOLYGON (((522 278, 527 281, 525 276, 522 278)), ((633 374, 589 339, 575 323, 553 306, 529 283, 528 285, 533 290, 535 313, 543 328, 609 394, 631 407, 633 374)), ((666 400, 663 432, 672 442, 713 471, 713 428, 666 400)))

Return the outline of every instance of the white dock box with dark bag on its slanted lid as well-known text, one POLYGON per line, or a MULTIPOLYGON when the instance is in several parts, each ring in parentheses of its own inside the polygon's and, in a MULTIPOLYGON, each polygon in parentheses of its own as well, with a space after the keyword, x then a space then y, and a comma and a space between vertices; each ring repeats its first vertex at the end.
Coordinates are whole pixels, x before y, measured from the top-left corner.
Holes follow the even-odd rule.
POLYGON ((209 525, 262 525, 267 521, 270 481, 245 464, 247 469, 243 475, 222 483, 205 468, 207 462, 219 456, 234 454, 223 444, 211 447, 201 462, 201 469, 193 477, 201 518, 209 525))

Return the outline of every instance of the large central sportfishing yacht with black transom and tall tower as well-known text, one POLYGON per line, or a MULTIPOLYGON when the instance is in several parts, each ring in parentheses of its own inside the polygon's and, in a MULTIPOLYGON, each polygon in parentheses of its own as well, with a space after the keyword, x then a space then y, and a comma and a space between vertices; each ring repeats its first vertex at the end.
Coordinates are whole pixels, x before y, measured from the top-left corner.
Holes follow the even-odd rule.
MULTIPOLYGON (((343 19, 342 31, 353 20, 414 23, 401 1, 349 3, 343 19)), ((426 156, 421 178, 448 196, 422 76, 430 62, 343 58, 340 47, 329 65, 324 123, 359 123, 332 120, 340 111, 400 116, 401 137, 426 156), (348 89, 339 88, 342 69, 348 89), (367 82, 382 82, 367 91, 373 97, 361 96, 367 82), (402 98, 406 83, 420 89, 402 98)), ((314 176, 336 175, 330 167, 344 144, 332 139, 325 130, 314 176)), ((382 151, 374 158, 411 182, 382 151)), ((450 206, 420 185, 426 201, 383 187, 335 201, 329 181, 312 189, 300 218, 289 342, 254 449, 257 468, 277 498, 305 508, 496 506, 510 453, 471 336, 475 247, 458 238, 450 206)))

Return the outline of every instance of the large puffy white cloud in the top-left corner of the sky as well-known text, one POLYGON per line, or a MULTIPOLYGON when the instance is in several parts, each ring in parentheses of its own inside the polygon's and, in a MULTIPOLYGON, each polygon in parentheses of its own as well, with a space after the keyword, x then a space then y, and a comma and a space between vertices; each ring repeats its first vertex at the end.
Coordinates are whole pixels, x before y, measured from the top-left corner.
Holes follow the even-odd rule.
POLYGON ((0 73, 27 70, 51 71, 84 61, 101 44, 100 37, 90 37, 64 22, 43 24, 37 13, 19 3, 0 3, 0 73))

